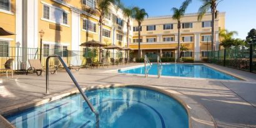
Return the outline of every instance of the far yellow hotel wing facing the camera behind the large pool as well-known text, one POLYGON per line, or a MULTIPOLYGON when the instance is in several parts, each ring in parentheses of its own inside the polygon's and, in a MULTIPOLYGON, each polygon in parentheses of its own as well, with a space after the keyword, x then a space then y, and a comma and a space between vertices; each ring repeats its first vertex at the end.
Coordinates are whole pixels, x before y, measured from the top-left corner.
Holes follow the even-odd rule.
MULTIPOLYGON (((185 14, 181 18, 180 44, 189 49, 183 57, 192 57, 200 61, 211 50, 211 19, 210 13, 205 14, 202 21, 197 21, 197 13, 185 14), (208 40, 208 44, 207 44, 208 40), (207 47, 208 46, 208 47, 207 47)), ((138 49, 138 27, 133 21, 133 37, 129 47, 138 49)), ((225 29, 225 12, 220 12, 215 19, 215 50, 219 49, 219 30, 225 29)), ((148 17, 142 22, 140 32, 140 54, 160 54, 162 57, 175 57, 178 45, 177 21, 172 16, 148 17)), ((134 52, 137 54, 137 51, 134 52)), ((176 54, 177 55, 177 54, 176 54)))

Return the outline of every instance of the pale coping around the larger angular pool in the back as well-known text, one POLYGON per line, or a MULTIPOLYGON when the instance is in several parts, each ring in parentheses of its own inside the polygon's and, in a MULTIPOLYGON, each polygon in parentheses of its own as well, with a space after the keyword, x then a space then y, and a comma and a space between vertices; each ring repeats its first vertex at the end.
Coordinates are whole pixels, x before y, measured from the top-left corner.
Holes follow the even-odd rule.
MULTIPOLYGON (((152 64, 156 64, 155 62, 152 62, 152 64)), ((237 80, 225 80, 225 79, 209 79, 209 78, 198 78, 198 77, 179 77, 179 76, 160 76, 160 77, 167 77, 167 78, 178 78, 178 79, 195 79, 195 80, 208 80, 208 81, 249 81, 249 79, 245 78, 245 77, 242 77, 242 76, 237 76, 237 74, 234 74, 232 72, 229 72, 229 71, 223 71, 223 70, 220 70, 218 69, 217 67, 214 67, 214 66, 210 66, 209 64, 205 64, 205 63, 175 63, 175 62, 162 62, 162 64, 192 64, 192 65, 204 65, 204 66, 207 66, 207 67, 210 67, 216 71, 219 71, 219 72, 222 72, 224 74, 227 74, 227 75, 230 75, 230 76, 233 76, 235 78, 237 78, 237 80)), ((131 66, 131 67, 124 67, 124 68, 121 68, 121 69, 115 69, 115 70, 111 70, 111 71, 106 71, 106 72, 118 72, 120 70, 129 70, 129 69, 133 69, 133 68, 137 68, 137 67, 143 67, 144 64, 142 65, 139 65, 139 66, 131 66)), ((125 72, 118 72, 120 74, 127 74, 127 75, 130 75, 130 76, 145 76, 144 74, 130 74, 130 73, 125 73, 125 72)), ((157 75, 148 75, 150 77, 157 77, 157 75)))

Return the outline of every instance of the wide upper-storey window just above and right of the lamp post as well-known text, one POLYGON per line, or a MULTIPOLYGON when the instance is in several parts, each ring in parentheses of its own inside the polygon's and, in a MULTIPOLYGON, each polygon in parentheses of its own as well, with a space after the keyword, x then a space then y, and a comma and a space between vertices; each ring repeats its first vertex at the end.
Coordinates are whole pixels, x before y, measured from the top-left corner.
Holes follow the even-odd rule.
POLYGON ((49 19, 57 24, 67 24, 67 13, 56 7, 44 5, 43 17, 44 19, 49 19))

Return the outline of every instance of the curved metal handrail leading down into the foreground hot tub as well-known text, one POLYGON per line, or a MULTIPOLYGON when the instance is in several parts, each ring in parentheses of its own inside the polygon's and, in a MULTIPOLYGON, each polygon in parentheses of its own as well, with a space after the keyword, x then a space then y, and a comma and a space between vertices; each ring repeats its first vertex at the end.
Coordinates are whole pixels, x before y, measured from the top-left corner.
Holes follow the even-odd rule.
POLYGON ((57 57, 59 59, 59 61, 61 62, 62 66, 66 69, 67 74, 69 74, 69 77, 71 77, 75 86, 77 87, 80 94, 84 98, 84 101, 86 101, 86 103, 89 106, 89 108, 91 109, 91 111, 95 114, 95 116, 96 116, 96 127, 99 128, 99 114, 96 112, 96 110, 92 106, 91 102, 89 101, 89 99, 86 97, 86 95, 82 91, 82 89, 79 86, 78 82, 76 81, 75 77, 72 75, 71 71, 69 71, 69 68, 66 66, 65 62, 63 61, 63 59, 59 55, 48 56, 47 59, 46 59, 46 94, 49 94, 49 59, 51 57, 57 57))

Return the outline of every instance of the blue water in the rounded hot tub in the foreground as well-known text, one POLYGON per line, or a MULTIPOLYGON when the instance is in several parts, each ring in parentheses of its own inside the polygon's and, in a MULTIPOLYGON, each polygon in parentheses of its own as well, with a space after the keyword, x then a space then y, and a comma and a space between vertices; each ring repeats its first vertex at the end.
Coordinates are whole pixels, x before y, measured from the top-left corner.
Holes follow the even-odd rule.
MULTIPOLYGON (((113 87, 86 91, 99 112, 101 128, 189 127, 179 102, 157 91, 113 87)), ((96 127, 96 118, 80 94, 6 116, 16 127, 96 127)))

